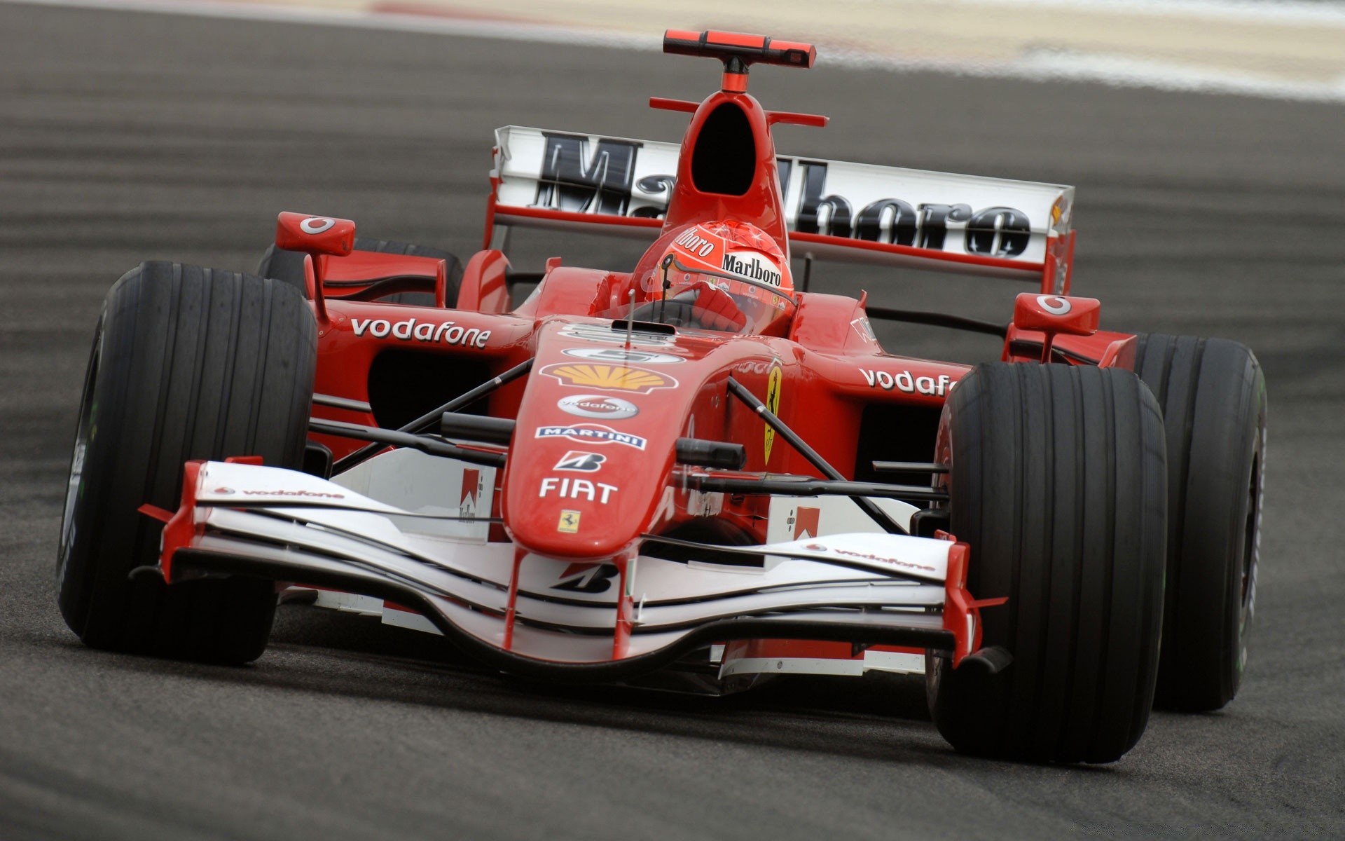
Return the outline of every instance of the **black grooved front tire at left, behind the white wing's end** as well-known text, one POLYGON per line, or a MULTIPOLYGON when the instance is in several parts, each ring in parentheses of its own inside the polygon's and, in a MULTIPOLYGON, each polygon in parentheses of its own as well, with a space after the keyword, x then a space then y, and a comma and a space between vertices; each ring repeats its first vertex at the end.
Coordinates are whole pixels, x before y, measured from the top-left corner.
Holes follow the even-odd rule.
POLYGON ((89 646, 241 663, 266 647, 276 591, 258 579, 172 587, 157 562, 183 463, 260 455, 304 463, 316 324, 274 280, 145 262, 108 293, 79 408, 61 529, 56 600, 89 646))

